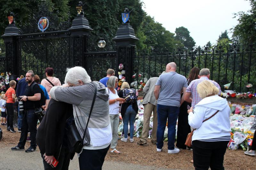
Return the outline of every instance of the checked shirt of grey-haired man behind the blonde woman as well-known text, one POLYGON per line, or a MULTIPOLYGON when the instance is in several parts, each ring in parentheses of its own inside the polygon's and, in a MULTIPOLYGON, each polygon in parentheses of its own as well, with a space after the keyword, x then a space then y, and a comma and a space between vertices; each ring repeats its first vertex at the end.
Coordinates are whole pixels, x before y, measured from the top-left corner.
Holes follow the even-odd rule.
POLYGON ((190 82, 190 84, 188 85, 186 92, 190 92, 192 95, 192 104, 191 107, 195 108, 196 104, 201 101, 201 97, 199 96, 199 94, 197 93, 196 87, 199 83, 201 83, 204 80, 208 80, 210 82, 212 82, 216 87, 219 88, 220 92, 219 95, 221 94, 221 89, 220 89, 220 85, 212 80, 209 80, 207 77, 201 77, 199 79, 195 79, 193 81, 190 82))

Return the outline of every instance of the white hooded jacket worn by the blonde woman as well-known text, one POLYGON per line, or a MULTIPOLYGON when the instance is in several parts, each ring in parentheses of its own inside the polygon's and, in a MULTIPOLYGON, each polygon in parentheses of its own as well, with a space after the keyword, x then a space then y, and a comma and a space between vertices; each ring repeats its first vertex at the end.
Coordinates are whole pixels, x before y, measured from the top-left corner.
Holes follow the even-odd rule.
POLYGON ((188 124, 196 129, 192 136, 193 140, 212 139, 230 135, 230 107, 226 99, 218 95, 210 96, 202 99, 195 106, 194 113, 188 115, 188 124), (203 121, 211 117, 217 110, 219 112, 211 119, 203 121))

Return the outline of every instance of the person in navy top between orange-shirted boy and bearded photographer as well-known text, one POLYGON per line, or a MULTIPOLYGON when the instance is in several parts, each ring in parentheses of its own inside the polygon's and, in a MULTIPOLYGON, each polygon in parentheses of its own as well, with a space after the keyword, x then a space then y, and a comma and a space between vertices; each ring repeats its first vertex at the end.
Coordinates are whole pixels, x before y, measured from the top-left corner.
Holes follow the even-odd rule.
MULTIPOLYGON (((18 85, 17 85, 17 89, 16 89, 16 96, 24 96, 25 95, 25 90, 26 90, 26 86, 28 85, 28 83, 26 82, 26 78, 21 78, 18 81, 18 85)), ((21 132, 21 120, 22 120, 23 116, 20 115, 20 109, 18 107, 18 132, 21 132)))

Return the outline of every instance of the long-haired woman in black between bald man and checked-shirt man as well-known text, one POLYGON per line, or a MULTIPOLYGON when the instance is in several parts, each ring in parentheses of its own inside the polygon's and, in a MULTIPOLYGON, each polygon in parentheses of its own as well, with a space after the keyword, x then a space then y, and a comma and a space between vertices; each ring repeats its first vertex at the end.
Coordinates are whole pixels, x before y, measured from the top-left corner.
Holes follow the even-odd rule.
MULTIPOLYGON (((191 81, 198 78, 199 75, 199 68, 194 67, 191 69, 189 76, 188 76, 188 85, 191 81)), ((184 94, 182 94, 184 95, 184 94)), ((180 149, 187 149, 185 145, 188 133, 191 132, 190 126, 188 124, 188 109, 187 107, 191 107, 191 103, 184 101, 180 106, 180 113, 178 117, 178 128, 177 128, 177 143, 176 147, 180 149)))

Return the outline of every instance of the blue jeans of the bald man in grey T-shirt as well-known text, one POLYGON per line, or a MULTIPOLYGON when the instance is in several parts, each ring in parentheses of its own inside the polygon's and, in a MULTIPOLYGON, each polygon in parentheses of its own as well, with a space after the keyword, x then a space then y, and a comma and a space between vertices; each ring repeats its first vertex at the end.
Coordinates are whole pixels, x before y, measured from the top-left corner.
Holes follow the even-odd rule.
POLYGON ((179 115, 180 107, 165 106, 157 104, 157 143, 156 147, 162 149, 164 146, 164 130, 168 118, 168 150, 174 149, 176 122, 179 115))

